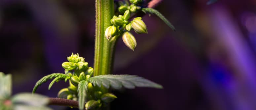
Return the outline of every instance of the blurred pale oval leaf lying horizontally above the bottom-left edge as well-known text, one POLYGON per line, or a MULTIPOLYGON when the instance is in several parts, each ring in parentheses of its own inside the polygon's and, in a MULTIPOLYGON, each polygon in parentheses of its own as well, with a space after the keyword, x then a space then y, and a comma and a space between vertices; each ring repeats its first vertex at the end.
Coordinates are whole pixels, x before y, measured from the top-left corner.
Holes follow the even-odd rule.
POLYGON ((32 93, 19 93, 14 95, 11 99, 13 104, 23 104, 31 106, 43 106, 49 103, 49 99, 46 96, 32 93))

